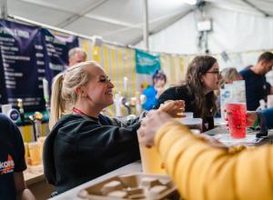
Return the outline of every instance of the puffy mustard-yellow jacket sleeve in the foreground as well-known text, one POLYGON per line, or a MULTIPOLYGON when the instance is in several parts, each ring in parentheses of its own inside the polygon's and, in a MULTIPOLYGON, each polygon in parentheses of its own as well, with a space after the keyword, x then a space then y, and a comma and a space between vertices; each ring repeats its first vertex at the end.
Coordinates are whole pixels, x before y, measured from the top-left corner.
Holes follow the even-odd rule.
POLYGON ((229 152, 176 121, 160 128, 156 146, 186 199, 273 199, 273 146, 229 152))

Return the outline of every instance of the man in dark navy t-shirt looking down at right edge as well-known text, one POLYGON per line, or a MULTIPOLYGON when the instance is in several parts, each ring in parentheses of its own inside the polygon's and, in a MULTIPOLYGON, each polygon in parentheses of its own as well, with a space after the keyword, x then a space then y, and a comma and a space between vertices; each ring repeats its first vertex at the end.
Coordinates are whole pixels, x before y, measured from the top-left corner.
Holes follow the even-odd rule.
POLYGON ((249 111, 255 111, 259 106, 259 100, 266 100, 267 95, 273 94, 273 88, 266 79, 266 74, 272 69, 272 66, 273 54, 265 52, 259 55, 256 65, 250 65, 239 72, 246 81, 247 107, 249 111))

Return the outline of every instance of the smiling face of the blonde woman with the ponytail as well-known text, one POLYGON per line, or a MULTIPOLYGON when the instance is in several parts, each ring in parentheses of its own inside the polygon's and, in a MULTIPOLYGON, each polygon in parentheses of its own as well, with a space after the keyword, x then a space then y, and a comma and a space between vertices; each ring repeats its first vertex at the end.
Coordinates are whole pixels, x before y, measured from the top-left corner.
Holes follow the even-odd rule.
POLYGON ((84 86, 84 94, 87 101, 96 108, 105 108, 114 103, 113 88, 114 85, 109 80, 105 71, 95 65, 93 67, 86 66, 86 71, 89 73, 89 81, 84 86))

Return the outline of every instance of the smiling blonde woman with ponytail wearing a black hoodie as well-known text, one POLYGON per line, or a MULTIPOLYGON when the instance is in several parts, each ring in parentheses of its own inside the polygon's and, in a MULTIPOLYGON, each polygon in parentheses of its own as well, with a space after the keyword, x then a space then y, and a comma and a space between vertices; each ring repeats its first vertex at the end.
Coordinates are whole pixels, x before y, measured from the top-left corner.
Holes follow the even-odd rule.
MULTIPOLYGON (((139 159, 136 130, 141 117, 126 121, 100 114, 113 104, 113 88, 105 71, 92 61, 56 76, 44 167, 58 193, 139 159)), ((183 105, 171 102, 161 108, 172 115, 183 105)))

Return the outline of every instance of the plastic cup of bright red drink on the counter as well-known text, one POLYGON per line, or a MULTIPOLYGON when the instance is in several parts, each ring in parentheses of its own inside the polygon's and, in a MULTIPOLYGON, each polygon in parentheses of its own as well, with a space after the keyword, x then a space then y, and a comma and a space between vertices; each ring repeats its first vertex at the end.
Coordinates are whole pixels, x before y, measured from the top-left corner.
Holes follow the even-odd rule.
POLYGON ((246 104, 227 103, 227 123, 229 134, 234 138, 246 137, 246 104))

